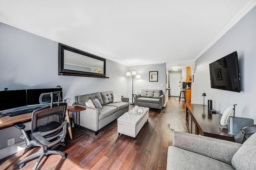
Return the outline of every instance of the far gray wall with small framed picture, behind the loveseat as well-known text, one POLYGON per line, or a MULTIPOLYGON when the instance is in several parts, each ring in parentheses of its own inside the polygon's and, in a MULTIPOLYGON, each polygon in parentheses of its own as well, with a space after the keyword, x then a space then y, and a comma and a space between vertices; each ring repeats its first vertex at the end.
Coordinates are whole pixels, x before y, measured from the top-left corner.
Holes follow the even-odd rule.
MULTIPOLYGON (((159 89, 163 91, 165 96, 165 64, 148 64, 129 67, 129 70, 133 69, 137 70, 137 73, 141 75, 140 79, 137 79, 136 76, 134 77, 134 92, 137 90, 138 93, 140 93, 141 89, 159 89), (150 71, 158 71, 158 82, 149 81, 150 71)), ((132 76, 128 76, 128 97, 130 100, 132 99, 132 76)))

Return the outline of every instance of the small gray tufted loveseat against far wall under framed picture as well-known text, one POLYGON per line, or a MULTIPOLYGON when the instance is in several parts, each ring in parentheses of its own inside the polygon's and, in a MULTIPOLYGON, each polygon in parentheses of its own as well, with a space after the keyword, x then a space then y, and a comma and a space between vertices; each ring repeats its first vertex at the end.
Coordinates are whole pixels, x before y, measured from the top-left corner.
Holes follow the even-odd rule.
POLYGON ((135 96, 135 105, 162 109, 164 106, 162 90, 142 89, 141 94, 135 96))

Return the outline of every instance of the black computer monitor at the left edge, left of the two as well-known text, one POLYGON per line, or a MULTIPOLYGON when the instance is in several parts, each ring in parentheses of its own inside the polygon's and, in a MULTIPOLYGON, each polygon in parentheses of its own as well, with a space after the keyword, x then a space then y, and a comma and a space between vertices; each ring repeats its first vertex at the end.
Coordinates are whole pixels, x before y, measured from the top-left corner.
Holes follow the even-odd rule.
POLYGON ((27 105, 26 90, 0 91, 0 111, 27 105))

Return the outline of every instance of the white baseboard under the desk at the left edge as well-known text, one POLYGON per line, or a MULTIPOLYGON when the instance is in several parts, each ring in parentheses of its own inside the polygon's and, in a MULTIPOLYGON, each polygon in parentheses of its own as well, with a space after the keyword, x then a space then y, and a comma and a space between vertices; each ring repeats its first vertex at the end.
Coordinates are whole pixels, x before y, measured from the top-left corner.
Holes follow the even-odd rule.
POLYGON ((14 145, 11 145, 10 147, 3 148, 0 150, 0 159, 6 158, 7 156, 10 156, 25 148, 26 148, 25 141, 21 141, 19 143, 15 143, 14 145))

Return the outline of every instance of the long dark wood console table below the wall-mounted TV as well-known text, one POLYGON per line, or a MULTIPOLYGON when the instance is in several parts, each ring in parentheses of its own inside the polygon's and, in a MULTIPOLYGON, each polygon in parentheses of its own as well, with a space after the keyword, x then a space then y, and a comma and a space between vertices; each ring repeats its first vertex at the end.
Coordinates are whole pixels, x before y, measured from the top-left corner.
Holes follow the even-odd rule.
POLYGON ((234 141, 234 137, 228 135, 227 127, 220 127, 220 114, 208 114, 207 106, 186 103, 186 125, 189 133, 234 141))

